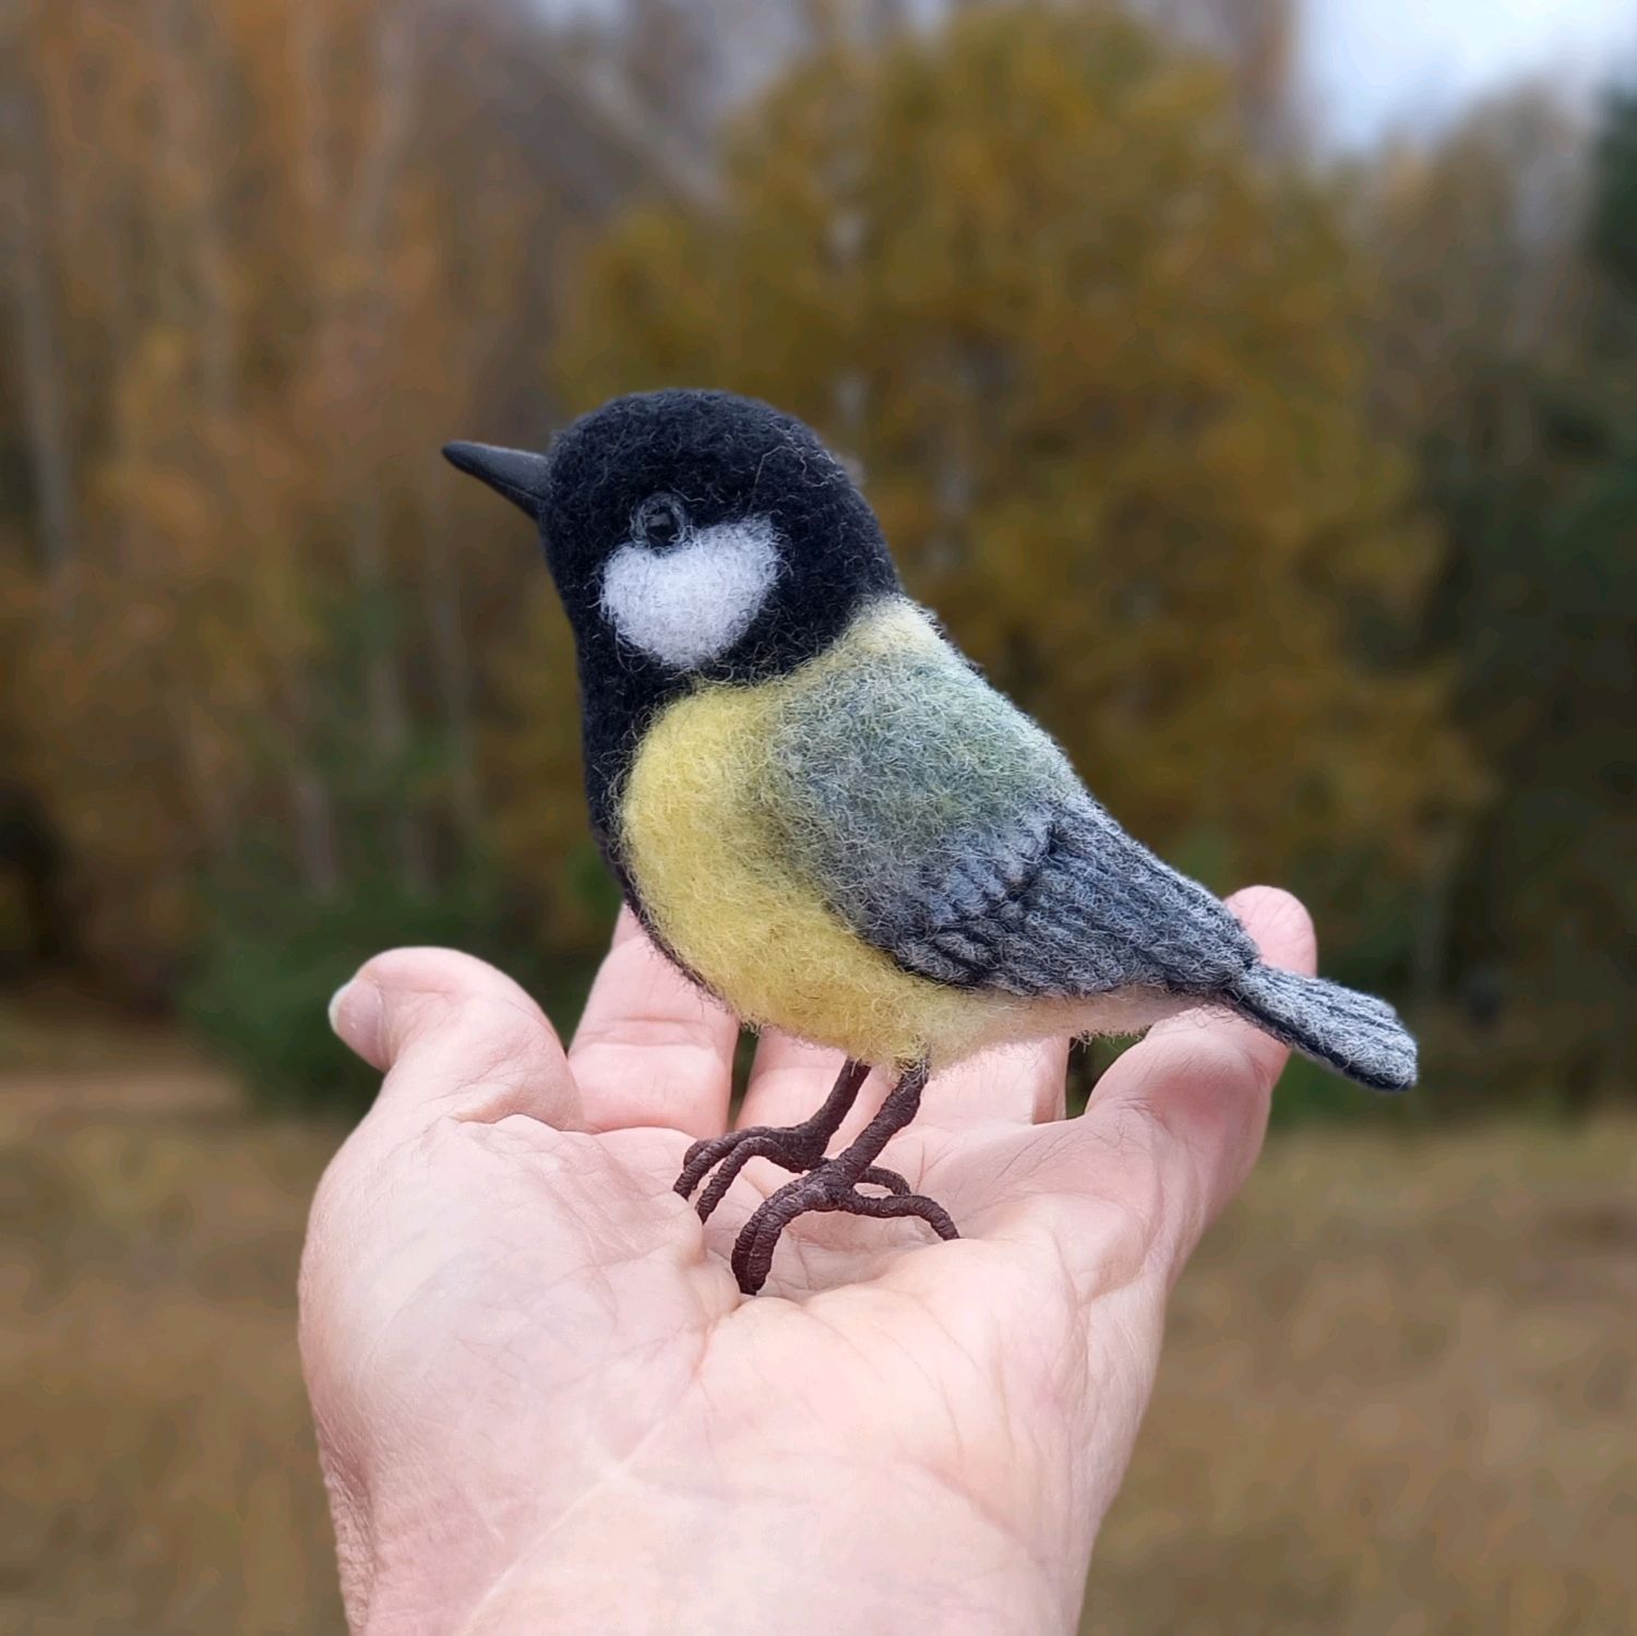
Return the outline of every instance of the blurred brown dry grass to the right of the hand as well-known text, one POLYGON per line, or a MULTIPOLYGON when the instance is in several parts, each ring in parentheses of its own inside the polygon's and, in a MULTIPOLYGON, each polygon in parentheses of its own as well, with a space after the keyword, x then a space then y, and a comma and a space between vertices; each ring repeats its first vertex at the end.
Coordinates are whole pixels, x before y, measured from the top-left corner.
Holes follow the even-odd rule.
POLYGON ((1637 1122, 1280 1137, 1177 1287, 1085 1631, 1637 1631, 1637 1122))

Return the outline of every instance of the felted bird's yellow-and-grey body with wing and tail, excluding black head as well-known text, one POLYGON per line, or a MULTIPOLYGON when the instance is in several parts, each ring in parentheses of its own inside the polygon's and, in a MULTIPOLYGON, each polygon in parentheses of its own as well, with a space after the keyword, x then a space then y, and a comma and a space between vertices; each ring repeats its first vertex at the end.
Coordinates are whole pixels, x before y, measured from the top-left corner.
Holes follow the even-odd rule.
POLYGON ((1203 999, 1373 1082, 1405 1071, 1388 1007, 1264 984, 1238 920, 1131 842, 899 596, 778 683, 670 706, 622 811, 637 889, 688 968, 746 1022, 861 1061, 945 1066, 1203 999))

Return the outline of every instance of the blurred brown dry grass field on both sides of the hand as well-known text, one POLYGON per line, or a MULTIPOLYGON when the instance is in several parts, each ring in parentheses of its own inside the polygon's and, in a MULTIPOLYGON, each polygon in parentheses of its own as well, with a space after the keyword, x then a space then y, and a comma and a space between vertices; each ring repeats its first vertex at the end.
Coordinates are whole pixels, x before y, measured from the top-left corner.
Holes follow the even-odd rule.
MULTIPOLYGON (((334 1133, 0 1017, 0 1631, 340 1631, 291 1286, 334 1133)), ((1637 1629, 1637 1122, 1280 1138, 1087 1631, 1637 1629)))

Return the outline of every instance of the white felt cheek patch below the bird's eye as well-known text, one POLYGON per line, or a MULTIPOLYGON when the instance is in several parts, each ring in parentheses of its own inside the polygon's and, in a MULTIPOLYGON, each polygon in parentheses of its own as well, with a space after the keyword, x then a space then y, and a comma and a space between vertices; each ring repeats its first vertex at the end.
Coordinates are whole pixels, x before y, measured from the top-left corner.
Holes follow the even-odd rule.
POLYGON ((699 529, 670 550, 627 540, 602 570, 602 612, 650 658, 692 670, 725 653, 761 612, 779 573, 766 517, 699 529))

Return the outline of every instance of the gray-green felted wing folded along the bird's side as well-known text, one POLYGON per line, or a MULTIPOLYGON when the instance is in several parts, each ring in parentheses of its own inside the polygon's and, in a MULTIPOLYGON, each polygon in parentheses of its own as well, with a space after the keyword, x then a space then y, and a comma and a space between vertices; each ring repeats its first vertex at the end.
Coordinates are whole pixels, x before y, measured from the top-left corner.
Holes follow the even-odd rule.
POLYGON ((1020 996, 1211 992, 1256 947, 1138 845, 1067 758, 945 644, 837 675, 784 722, 789 855, 871 945, 1020 996))

